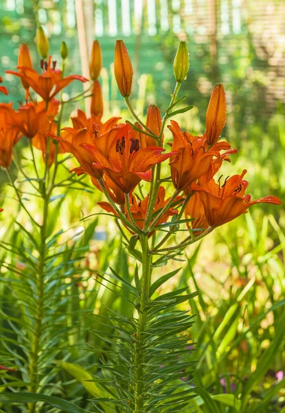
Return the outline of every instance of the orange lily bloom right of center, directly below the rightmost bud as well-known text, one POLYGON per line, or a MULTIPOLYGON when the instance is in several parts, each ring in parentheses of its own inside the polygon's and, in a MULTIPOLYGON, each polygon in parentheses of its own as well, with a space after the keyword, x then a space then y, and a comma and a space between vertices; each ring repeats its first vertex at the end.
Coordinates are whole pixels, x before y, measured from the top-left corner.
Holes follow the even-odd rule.
POLYGON ((209 171, 214 157, 220 158, 220 151, 230 148, 227 142, 218 142, 213 147, 207 145, 206 134, 193 136, 182 132, 179 124, 171 120, 173 143, 176 155, 170 158, 170 170, 174 187, 179 191, 190 187, 192 182, 209 171))

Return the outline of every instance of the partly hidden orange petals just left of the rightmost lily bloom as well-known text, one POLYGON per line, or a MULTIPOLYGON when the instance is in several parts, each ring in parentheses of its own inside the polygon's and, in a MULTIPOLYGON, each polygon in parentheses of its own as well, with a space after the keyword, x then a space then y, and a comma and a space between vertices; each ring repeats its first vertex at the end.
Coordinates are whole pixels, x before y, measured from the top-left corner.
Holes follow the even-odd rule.
MULTIPOLYGON (((187 222, 190 229, 207 229, 209 224, 205 217, 205 211, 198 192, 194 192, 185 208, 185 218, 195 218, 194 221, 187 222)), ((199 235, 203 231, 194 231, 194 236, 199 235)))

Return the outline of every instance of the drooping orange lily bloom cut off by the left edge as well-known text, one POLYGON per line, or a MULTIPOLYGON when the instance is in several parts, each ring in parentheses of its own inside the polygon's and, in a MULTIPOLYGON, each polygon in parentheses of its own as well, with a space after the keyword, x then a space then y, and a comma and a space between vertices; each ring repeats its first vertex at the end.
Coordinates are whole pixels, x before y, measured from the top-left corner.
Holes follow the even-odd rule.
POLYGON ((8 168, 11 164, 12 149, 21 138, 15 126, 12 105, 0 104, 0 166, 8 168))

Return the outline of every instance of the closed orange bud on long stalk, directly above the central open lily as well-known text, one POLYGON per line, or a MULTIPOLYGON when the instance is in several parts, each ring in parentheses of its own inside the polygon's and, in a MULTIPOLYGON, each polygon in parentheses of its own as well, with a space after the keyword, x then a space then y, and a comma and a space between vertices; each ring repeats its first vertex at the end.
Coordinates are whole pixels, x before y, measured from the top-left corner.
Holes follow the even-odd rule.
POLYGON ((122 96, 130 96, 133 81, 133 66, 128 56, 128 50, 124 41, 117 40, 115 44, 115 62, 114 62, 115 78, 119 92, 122 96))

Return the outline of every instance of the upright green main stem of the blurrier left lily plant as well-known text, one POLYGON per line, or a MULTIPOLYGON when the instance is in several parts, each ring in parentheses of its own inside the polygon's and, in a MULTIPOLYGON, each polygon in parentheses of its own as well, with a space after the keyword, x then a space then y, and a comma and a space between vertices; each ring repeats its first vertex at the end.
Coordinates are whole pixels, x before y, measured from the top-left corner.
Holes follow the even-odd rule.
MULTIPOLYGON (((29 391, 35 393, 38 388, 38 358, 41 352, 40 343, 43 324, 43 306, 44 306, 44 279, 45 279, 45 253, 47 239, 47 217, 49 196, 43 198, 43 224, 41 225, 41 244, 38 250, 38 267, 36 273, 36 316, 34 334, 32 337, 31 353, 30 353, 30 388, 29 391)), ((36 411, 36 403, 30 404, 30 413, 36 411)))

